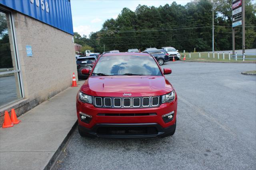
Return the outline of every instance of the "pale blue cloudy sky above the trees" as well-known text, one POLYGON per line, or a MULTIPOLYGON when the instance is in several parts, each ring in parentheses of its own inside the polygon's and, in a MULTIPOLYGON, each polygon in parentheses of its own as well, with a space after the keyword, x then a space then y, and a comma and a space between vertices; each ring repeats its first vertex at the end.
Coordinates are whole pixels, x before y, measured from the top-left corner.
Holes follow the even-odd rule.
POLYGON ((88 37, 90 32, 99 31, 107 19, 116 19, 124 7, 135 11, 139 4, 158 7, 174 1, 181 5, 190 2, 190 0, 71 0, 73 29, 81 36, 88 37))

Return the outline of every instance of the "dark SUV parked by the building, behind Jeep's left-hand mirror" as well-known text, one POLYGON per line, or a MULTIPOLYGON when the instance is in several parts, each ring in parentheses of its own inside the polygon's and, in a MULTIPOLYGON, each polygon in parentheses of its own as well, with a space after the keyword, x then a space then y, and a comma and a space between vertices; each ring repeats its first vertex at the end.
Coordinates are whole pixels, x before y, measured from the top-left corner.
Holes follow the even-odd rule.
POLYGON ((92 69, 96 60, 97 60, 97 57, 95 57, 95 56, 94 57, 79 57, 76 60, 78 80, 88 78, 88 75, 82 74, 81 71, 82 71, 82 69, 85 69, 85 68, 92 69))

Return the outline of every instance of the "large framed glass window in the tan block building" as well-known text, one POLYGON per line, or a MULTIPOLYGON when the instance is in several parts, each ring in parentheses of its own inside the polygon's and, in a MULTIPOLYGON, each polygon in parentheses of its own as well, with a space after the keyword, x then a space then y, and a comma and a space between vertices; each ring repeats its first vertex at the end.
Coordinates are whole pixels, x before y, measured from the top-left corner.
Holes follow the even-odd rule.
POLYGON ((12 15, 0 9, 0 107, 22 98, 12 15))

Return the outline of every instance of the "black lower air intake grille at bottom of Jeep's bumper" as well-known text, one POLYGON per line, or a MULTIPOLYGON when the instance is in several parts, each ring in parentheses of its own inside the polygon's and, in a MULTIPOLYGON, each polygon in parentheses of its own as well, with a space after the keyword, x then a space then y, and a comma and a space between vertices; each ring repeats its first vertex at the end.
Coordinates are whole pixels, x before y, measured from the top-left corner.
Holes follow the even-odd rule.
POLYGON ((158 134, 156 127, 99 127, 97 134, 100 135, 154 135, 158 134))

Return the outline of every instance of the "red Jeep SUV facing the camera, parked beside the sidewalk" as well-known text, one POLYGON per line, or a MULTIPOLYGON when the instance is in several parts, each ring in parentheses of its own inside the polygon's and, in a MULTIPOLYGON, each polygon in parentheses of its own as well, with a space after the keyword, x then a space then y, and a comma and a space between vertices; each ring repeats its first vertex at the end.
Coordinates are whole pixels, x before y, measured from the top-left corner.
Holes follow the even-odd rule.
POLYGON ((177 94, 148 53, 106 53, 76 97, 81 136, 135 138, 173 135, 177 94))

